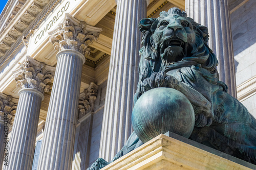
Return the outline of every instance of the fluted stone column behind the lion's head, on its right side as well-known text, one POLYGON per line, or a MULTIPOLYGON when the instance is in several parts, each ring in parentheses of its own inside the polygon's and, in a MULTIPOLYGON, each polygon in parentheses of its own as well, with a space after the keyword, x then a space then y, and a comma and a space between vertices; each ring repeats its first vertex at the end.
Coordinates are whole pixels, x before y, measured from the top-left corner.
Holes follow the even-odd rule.
POLYGON ((186 0, 185 10, 189 17, 208 27, 209 47, 218 58, 220 80, 227 84, 228 93, 237 98, 228 0, 186 0))

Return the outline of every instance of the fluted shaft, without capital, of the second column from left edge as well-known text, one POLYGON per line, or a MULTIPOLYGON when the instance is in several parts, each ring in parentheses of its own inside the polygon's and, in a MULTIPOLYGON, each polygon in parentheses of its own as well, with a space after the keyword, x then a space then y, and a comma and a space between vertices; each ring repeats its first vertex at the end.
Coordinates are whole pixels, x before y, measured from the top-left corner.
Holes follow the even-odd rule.
POLYGON ((36 89, 19 91, 19 100, 8 150, 8 166, 4 169, 31 169, 37 124, 44 94, 36 89))

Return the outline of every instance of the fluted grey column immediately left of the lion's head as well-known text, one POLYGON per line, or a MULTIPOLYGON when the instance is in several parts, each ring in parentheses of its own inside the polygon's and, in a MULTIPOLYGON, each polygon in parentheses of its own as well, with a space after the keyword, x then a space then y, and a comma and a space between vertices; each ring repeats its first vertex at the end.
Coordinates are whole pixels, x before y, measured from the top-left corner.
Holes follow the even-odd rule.
POLYGON ((142 34, 149 0, 116 0, 117 11, 106 90, 99 157, 110 161, 132 132, 133 95, 138 83, 142 34))

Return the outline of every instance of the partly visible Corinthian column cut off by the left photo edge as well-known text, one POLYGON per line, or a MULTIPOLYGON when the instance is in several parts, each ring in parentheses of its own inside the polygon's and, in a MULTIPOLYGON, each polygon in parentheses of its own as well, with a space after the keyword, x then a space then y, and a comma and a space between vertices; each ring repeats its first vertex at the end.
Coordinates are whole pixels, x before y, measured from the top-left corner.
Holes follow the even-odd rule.
POLYGON ((4 164, 8 165, 8 132, 13 124, 14 114, 16 113, 17 104, 12 102, 9 95, 0 93, 0 169, 4 164))

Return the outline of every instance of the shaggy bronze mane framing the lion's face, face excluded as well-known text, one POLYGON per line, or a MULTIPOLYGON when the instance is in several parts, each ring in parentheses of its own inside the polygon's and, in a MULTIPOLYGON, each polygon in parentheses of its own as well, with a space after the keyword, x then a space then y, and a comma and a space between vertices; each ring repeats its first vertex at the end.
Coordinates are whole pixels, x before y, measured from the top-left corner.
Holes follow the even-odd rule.
MULTIPOLYGON (((187 14, 184 11, 181 12, 178 8, 172 8, 168 12, 160 12, 160 17, 158 18, 142 19, 139 23, 139 29, 143 33, 143 46, 139 51, 139 82, 137 86, 138 89, 134 96, 135 103, 146 91, 144 89, 143 81, 153 75, 154 72, 159 72, 161 70, 167 72, 168 70, 190 67, 197 64, 201 64, 203 68, 210 71, 210 75, 204 75, 209 82, 218 83, 223 87, 224 91, 227 91, 226 84, 219 81, 219 74, 216 69, 216 66, 218 65, 217 57, 207 45, 209 38, 208 31, 206 31, 207 33, 202 31, 201 25, 195 22, 194 19, 187 17, 187 14), (182 61, 168 65, 168 63, 160 57, 158 50, 159 42, 155 41, 153 34, 156 30, 157 23, 170 14, 178 14, 182 17, 186 17, 186 19, 191 22, 196 35, 196 41, 195 43, 188 44, 189 51, 182 61)), ((182 79, 180 79, 180 81, 182 82, 182 79)))

